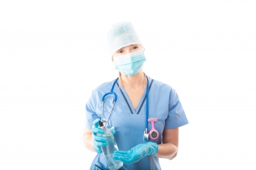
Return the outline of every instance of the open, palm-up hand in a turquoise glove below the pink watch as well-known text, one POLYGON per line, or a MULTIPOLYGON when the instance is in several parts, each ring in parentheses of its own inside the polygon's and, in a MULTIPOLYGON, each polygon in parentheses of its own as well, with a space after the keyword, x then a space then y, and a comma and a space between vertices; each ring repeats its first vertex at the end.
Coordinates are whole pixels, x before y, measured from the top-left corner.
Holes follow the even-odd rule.
POLYGON ((158 152, 158 145, 155 142, 146 142, 136 145, 130 151, 115 151, 113 158, 122 161, 123 163, 138 162, 146 155, 156 155, 158 152))

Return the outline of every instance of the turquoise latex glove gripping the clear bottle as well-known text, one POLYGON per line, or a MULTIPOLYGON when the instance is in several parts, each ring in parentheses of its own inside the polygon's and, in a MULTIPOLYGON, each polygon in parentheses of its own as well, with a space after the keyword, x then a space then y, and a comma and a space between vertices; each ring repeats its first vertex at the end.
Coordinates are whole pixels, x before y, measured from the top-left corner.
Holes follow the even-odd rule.
MULTIPOLYGON (((106 138, 103 136, 98 136, 98 134, 104 134, 105 132, 103 131, 103 129, 98 128, 99 127, 99 122, 100 122, 100 118, 97 118, 96 120, 94 120, 93 122, 93 128, 91 129, 92 131, 92 139, 93 139, 93 148, 97 153, 101 153, 101 147, 104 147, 105 145, 108 144, 108 142, 106 141, 106 138)), ((116 130, 114 127, 111 128, 112 133, 115 135, 116 134, 116 130)))

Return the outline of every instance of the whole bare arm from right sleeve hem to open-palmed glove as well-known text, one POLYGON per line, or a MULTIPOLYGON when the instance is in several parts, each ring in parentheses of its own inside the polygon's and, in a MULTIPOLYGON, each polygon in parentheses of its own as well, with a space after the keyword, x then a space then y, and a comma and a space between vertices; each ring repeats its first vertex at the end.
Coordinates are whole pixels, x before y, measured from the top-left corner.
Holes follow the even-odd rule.
POLYGON ((159 158, 174 159, 178 153, 179 128, 163 130, 163 144, 158 144, 159 158))

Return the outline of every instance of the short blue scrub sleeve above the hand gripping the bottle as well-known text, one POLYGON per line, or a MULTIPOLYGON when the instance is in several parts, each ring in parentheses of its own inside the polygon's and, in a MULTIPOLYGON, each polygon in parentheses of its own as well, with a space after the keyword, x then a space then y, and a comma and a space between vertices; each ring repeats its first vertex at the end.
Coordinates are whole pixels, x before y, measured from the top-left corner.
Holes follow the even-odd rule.
POLYGON ((86 117, 84 118, 84 123, 86 124, 87 129, 92 129, 93 121, 97 118, 100 118, 96 114, 96 103, 94 101, 93 92, 89 99, 89 101, 86 103, 86 117))

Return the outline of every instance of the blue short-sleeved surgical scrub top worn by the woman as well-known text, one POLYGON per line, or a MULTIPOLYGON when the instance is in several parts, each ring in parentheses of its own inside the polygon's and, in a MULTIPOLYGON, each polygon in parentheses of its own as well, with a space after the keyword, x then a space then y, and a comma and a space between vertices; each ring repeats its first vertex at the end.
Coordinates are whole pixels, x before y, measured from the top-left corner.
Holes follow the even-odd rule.
MULTIPOLYGON (((117 101, 111 113, 107 128, 115 127, 115 140, 120 151, 128 151, 137 144, 153 141, 162 143, 162 133, 164 129, 174 129, 188 124, 186 115, 180 103, 175 89, 162 82, 149 80, 148 92, 148 118, 158 117, 155 122, 155 129, 159 132, 156 140, 148 138, 143 141, 146 119, 146 88, 140 99, 137 108, 133 105, 126 94, 124 88, 119 88, 120 82, 114 86, 113 91, 117 95, 117 101)), ((104 83, 93 90, 91 98, 86 104, 86 118, 84 122, 88 129, 92 129, 93 121, 101 118, 102 96, 110 92, 115 80, 104 83)), ((111 95, 110 95, 111 96, 111 95)), ((113 104, 112 98, 106 98, 103 109, 103 119, 109 116, 113 104)), ((152 129, 151 122, 147 122, 147 132, 152 129)), ((103 153, 97 154, 90 169, 109 169, 103 153)), ((156 156, 145 156, 140 161, 132 164, 123 164, 122 169, 161 169, 159 158, 156 156)))

